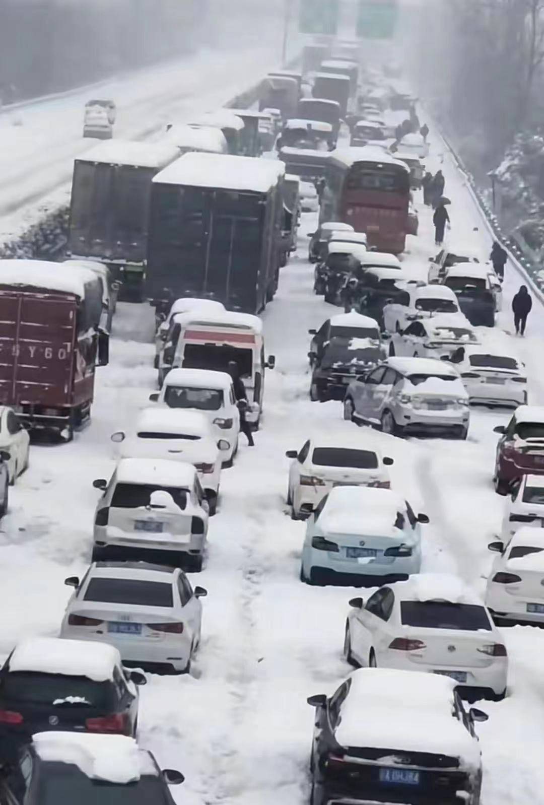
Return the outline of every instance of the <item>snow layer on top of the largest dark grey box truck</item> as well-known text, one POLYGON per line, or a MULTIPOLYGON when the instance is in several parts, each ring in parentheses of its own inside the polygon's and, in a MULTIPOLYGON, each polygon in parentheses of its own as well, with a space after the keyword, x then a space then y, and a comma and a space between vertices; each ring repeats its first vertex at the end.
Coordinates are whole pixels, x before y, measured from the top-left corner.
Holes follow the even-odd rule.
POLYGON ((278 159, 229 154, 184 154, 155 176, 156 184, 183 184, 266 193, 278 184, 285 165, 278 159))

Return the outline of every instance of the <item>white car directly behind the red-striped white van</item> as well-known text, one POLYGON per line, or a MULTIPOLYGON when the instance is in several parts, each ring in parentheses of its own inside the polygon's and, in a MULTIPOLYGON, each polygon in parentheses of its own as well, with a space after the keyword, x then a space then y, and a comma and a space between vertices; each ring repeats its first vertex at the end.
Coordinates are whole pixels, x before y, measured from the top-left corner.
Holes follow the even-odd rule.
POLYGON ((207 416, 217 438, 229 442, 223 466, 232 466, 238 449, 240 411, 229 374, 209 369, 171 369, 160 393, 151 394, 150 401, 167 408, 200 411, 207 416))

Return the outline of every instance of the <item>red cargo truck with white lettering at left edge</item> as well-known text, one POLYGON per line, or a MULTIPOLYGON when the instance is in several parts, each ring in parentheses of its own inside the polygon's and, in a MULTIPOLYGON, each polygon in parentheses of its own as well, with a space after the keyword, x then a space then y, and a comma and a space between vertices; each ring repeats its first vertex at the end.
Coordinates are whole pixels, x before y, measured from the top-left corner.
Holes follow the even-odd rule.
POLYGON ((97 365, 108 362, 101 286, 92 271, 0 260, 0 405, 29 430, 64 440, 89 420, 97 365))

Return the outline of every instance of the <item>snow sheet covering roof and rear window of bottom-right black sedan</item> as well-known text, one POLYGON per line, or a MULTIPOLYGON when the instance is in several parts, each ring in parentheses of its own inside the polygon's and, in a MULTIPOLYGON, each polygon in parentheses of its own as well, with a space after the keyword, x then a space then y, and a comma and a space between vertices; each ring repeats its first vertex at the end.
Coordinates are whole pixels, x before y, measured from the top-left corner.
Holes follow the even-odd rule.
POLYGON ((455 682, 438 674, 361 668, 351 675, 336 740, 364 746, 428 752, 480 765, 480 749, 453 716, 455 682))

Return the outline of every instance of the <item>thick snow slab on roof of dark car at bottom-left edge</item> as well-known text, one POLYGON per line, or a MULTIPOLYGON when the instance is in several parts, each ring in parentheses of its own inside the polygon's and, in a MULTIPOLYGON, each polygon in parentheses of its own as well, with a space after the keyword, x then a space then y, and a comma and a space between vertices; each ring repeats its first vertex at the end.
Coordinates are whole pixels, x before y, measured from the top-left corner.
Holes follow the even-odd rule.
POLYGON ((70 763, 92 779, 126 785, 159 774, 150 753, 125 735, 35 733, 32 745, 41 760, 70 763))

